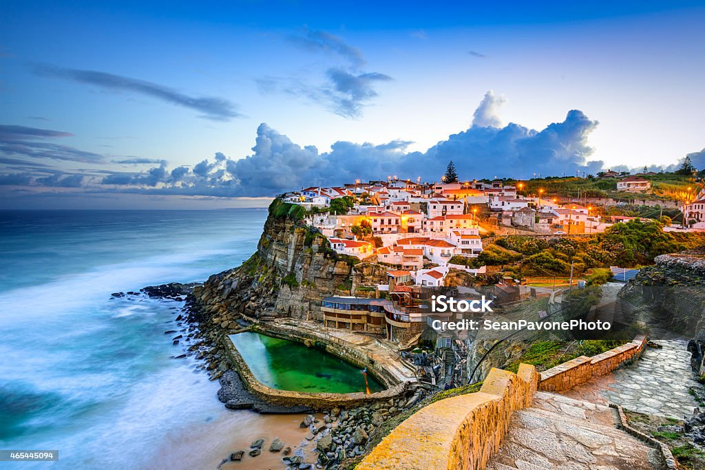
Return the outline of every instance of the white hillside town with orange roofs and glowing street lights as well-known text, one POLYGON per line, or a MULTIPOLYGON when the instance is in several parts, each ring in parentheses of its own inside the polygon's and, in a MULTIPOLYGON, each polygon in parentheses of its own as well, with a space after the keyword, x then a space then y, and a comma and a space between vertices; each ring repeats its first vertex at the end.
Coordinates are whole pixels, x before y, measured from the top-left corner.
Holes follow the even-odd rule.
MULTIPOLYGON (((640 175, 606 171, 600 178, 616 179, 618 190, 635 196, 651 188, 649 180, 640 175)), ((477 257, 483 238, 489 236, 590 235, 603 233, 615 223, 639 219, 603 216, 580 200, 549 196, 541 188, 526 194, 525 184, 461 182, 450 162, 441 183, 390 175, 367 183, 355 180, 339 187, 306 187, 280 198, 307 209, 305 223, 326 236, 338 254, 389 265, 391 276, 408 276, 412 284, 429 287, 442 286, 450 268, 484 273, 484 266, 467 268, 467 263, 452 260, 477 257)), ((682 214, 691 222, 691 230, 703 230, 705 190, 693 199, 682 206, 682 214)))

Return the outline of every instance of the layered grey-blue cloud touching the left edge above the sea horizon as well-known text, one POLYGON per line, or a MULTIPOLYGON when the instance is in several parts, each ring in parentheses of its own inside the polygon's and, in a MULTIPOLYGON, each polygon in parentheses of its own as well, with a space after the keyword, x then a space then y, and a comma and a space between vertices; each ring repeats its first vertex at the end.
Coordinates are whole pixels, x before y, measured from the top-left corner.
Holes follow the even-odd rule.
POLYGON ((0 125, 0 154, 29 156, 35 159, 98 162, 103 156, 54 142, 43 142, 73 134, 59 130, 29 128, 23 125, 0 125))

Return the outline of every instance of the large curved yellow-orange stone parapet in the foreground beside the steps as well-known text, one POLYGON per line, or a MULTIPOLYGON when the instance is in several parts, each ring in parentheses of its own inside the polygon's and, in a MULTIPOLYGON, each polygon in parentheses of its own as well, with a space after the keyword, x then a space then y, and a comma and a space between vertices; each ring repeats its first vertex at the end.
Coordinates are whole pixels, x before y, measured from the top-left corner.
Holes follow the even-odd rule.
POLYGON ((534 366, 521 364, 516 374, 492 369, 479 392, 420 409, 356 469, 484 469, 499 449, 512 413, 532 404, 538 383, 534 366))

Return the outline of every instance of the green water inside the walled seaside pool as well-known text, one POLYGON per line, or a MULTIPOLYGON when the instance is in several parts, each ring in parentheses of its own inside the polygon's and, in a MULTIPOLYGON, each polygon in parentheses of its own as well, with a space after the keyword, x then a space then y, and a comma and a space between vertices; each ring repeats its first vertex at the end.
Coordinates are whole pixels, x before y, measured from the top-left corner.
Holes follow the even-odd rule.
MULTIPOLYGON (((245 331, 230 335, 258 381, 277 390, 294 392, 364 392, 362 369, 339 357, 300 342, 245 331)), ((367 374, 371 393, 384 390, 367 374)))

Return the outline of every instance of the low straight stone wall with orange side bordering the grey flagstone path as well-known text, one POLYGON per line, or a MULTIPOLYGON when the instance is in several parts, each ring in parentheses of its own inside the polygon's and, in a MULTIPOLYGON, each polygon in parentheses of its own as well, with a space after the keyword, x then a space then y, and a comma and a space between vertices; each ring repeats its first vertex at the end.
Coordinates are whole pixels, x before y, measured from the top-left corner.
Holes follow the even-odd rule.
POLYGON ((637 359, 646 345, 644 336, 637 336, 625 345, 597 354, 593 357, 581 356, 564 362, 552 369, 541 372, 539 389, 546 392, 563 392, 603 376, 619 366, 637 359))

